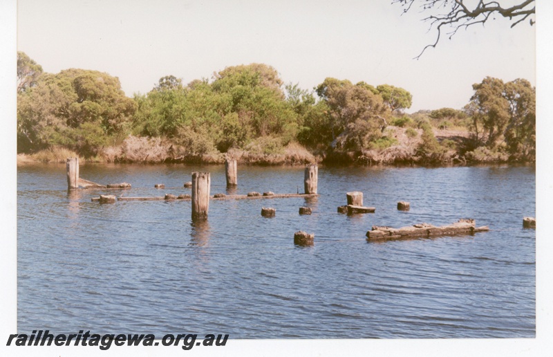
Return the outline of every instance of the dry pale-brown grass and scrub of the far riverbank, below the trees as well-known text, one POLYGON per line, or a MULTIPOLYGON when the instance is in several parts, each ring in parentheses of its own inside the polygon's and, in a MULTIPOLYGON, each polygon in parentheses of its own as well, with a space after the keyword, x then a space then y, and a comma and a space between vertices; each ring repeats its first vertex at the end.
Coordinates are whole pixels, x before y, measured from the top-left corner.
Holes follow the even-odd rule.
MULTIPOLYGON (((225 156, 236 158, 239 165, 467 165, 479 163, 527 163, 509 160, 507 154, 491 152, 485 147, 467 151, 469 132, 461 129, 433 128, 437 145, 431 150, 423 142, 422 129, 386 127, 386 137, 392 145, 384 148, 347 151, 339 147, 309 150, 299 143, 270 147, 263 142, 252 143, 246 149, 229 149, 202 154, 176 147, 169 140, 129 136, 122 145, 106 147, 96 156, 82 157, 64 147, 51 147, 35 154, 18 154, 17 163, 65 163, 68 157, 79 157, 82 163, 185 163, 223 164, 225 156)), ((265 143, 266 144, 266 143, 265 143)))

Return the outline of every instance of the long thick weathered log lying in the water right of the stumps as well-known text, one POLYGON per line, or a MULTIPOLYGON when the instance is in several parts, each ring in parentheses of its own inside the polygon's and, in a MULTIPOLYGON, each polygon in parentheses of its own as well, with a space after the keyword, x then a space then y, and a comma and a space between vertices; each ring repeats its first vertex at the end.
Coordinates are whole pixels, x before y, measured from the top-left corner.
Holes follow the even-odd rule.
POLYGON ((384 241, 389 239, 409 239, 421 237, 437 237, 444 235, 471 235, 489 230, 487 226, 476 227, 474 219, 460 219, 449 226, 433 226, 428 223, 414 224, 410 227, 391 228, 373 226, 366 234, 368 241, 384 241))

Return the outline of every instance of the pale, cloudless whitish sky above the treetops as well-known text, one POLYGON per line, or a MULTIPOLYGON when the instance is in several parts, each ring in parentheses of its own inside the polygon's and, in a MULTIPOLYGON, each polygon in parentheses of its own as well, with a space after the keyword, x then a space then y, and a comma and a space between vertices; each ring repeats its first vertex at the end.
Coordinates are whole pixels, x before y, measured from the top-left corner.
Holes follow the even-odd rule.
POLYGON ((117 76, 128 96, 165 75, 188 83, 253 62, 303 89, 326 77, 400 86, 413 95, 408 112, 461 109, 487 75, 535 85, 528 21, 510 28, 498 17, 413 60, 435 39, 423 17, 391 0, 19 0, 17 48, 48 73, 117 76))

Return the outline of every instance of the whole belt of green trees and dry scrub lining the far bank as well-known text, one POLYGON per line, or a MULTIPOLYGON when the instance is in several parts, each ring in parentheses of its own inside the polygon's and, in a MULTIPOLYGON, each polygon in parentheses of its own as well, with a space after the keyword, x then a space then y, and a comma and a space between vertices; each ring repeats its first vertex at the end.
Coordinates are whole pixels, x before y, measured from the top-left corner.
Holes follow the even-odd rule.
POLYGON ((486 77, 462 109, 404 113, 409 91, 327 77, 312 91, 266 64, 126 97, 118 77, 17 61, 17 162, 241 165, 534 163, 535 88, 486 77))

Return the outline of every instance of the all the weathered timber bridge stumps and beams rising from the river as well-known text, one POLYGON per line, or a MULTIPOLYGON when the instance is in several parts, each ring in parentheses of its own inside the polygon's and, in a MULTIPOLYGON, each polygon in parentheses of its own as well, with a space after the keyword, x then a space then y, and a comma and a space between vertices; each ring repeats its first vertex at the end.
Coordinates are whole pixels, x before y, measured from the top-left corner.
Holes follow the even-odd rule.
MULTIPOLYGON (((166 194, 162 197, 115 197, 114 195, 100 195, 100 198, 93 198, 92 201, 100 203, 115 203, 115 201, 154 201, 154 200, 190 200, 192 202, 191 215, 192 219, 205 220, 209 213, 209 201, 211 199, 261 199, 261 198, 288 198, 288 197, 310 197, 318 196, 317 181, 318 167, 317 164, 307 165, 304 172, 304 194, 274 194, 273 192, 263 192, 263 195, 258 192, 249 192, 247 195, 225 195, 214 194, 210 196, 211 175, 209 172, 192 172, 192 181, 185 183, 185 187, 191 187, 191 194, 175 196, 166 194)), ((225 160, 225 178, 227 187, 236 187, 238 185, 236 160, 227 158, 225 160)), ((79 186, 83 188, 131 188, 129 183, 114 183, 109 185, 100 185, 91 181, 84 180, 79 177, 79 159, 67 159, 67 182, 70 190, 77 189, 79 186)), ((163 184, 156 184, 157 188, 165 188, 163 184)), ((347 205, 338 207, 338 212, 346 214, 359 213, 374 213, 374 207, 366 207, 363 205, 363 193, 359 191, 346 193, 347 205)), ((409 211, 411 205, 406 201, 397 202, 397 210, 409 211)), ((299 214, 311 214, 312 211, 308 207, 299 208, 299 214)), ((263 217, 274 217, 276 210, 274 208, 261 208, 263 217)), ((524 228, 535 228, 536 219, 533 217, 524 217, 524 228)), ((476 227, 473 219, 460 219, 458 222, 449 226, 436 227, 428 223, 415 224, 404 228, 391 228, 387 226, 373 226, 372 230, 366 233, 368 241, 382 241, 388 239, 402 239, 413 237, 431 237, 436 235, 460 235, 473 234, 474 232, 487 231, 487 226, 476 227)), ((294 244, 299 246, 312 246, 314 244, 315 234, 303 231, 294 234, 294 244)))

